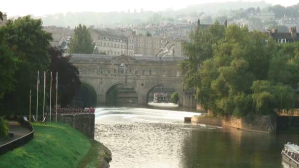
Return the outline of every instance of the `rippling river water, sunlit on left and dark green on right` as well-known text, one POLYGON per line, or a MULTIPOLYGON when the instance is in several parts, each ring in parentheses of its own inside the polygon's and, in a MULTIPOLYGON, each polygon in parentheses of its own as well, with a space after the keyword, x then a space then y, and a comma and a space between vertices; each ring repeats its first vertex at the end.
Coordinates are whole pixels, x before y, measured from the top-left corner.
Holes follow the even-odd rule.
POLYGON ((112 152, 111 168, 281 168, 286 142, 298 134, 261 134, 184 123, 196 112, 103 107, 95 140, 112 152))

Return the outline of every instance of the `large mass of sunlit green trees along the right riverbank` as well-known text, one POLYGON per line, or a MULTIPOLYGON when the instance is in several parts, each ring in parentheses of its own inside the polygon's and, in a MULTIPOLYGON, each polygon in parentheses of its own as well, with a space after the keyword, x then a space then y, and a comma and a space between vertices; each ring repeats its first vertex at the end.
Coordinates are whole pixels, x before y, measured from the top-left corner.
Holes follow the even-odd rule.
POLYGON ((181 68, 185 85, 197 88, 196 98, 203 108, 238 117, 294 108, 299 43, 279 46, 269 38, 265 44, 266 33, 237 25, 220 31, 223 36, 211 41, 199 31, 191 33, 192 41, 183 46, 188 59, 181 68))

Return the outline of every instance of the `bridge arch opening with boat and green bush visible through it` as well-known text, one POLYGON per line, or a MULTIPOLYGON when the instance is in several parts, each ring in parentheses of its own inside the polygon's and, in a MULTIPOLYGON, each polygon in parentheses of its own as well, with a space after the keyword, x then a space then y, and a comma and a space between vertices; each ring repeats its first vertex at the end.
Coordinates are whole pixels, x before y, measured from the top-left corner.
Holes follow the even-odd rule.
POLYGON ((157 85, 149 90, 147 94, 147 104, 150 106, 169 105, 177 107, 179 102, 179 94, 174 87, 166 85, 157 85))

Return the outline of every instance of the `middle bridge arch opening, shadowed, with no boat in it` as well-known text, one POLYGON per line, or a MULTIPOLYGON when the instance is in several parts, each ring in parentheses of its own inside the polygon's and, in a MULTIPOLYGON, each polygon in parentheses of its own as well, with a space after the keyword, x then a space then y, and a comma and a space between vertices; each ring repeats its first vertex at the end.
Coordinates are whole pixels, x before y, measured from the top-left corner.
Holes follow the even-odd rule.
POLYGON ((137 103, 137 92, 131 86, 127 86, 124 84, 115 84, 106 92, 106 105, 127 106, 135 105, 137 103))

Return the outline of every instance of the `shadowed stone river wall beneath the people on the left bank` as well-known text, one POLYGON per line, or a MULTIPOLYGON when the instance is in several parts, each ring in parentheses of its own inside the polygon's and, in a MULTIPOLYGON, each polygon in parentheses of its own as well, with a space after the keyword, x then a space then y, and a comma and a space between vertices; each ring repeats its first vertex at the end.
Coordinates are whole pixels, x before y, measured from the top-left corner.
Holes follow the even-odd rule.
POLYGON ((57 115, 57 121, 67 123, 88 138, 94 139, 94 114, 57 115))

